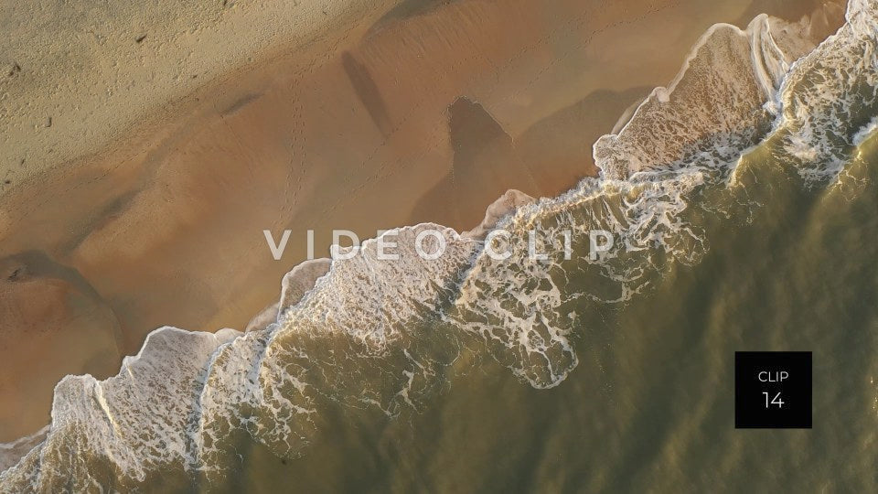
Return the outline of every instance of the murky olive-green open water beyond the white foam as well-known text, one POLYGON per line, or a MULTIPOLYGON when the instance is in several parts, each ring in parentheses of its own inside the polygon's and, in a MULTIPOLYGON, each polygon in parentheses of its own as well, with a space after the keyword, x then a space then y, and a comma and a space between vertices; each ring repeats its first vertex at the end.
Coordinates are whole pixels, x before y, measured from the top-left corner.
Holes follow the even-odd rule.
POLYGON ((710 242, 700 263, 627 303, 576 307, 579 365, 558 386, 483 361, 420 413, 329 411, 299 458, 241 441, 241 464, 202 489, 878 489, 878 140, 828 188, 772 146, 739 165, 746 207, 692 212, 710 242), (734 429, 736 350, 813 352, 813 429, 734 429))

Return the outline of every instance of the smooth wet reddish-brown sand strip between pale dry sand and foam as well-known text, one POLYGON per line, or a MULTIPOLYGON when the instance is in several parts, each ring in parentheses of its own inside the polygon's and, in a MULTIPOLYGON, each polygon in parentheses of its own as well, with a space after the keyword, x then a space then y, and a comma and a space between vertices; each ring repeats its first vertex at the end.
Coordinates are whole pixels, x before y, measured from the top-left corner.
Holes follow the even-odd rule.
MULTIPOLYGON (((479 10, 488 8, 484 5, 476 8, 463 4, 444 6, 413 20, 394 21, 365 40, 351 41, 350 46, 346 45, 348 49, 333 48, 332 57, 322 64, 313 60, 309 64, 279 49, 282 54, 276 59, 254 62, 257 69, 235 71, 246 76, 242 81, 236 81, 232 74, 215 85, 211 82, 182 102, 168 103, 166 113, 154 115, 155 126, 147 124, 146 130, 133 130, 138 136, 120 139, 110 150, 81 158, 86 163, 83 167, 47 172, 47 177, 56 174, 63 180, 55 177, 58 181, 53 184, 46 177, 34 177, 30 187, 39 190, 41 196, 18 199, 24 205, 18 205, 17 220, 11 218, 8 209, 9 202, 16 198, 10 199, 7 194, 0 197, 0 223, 9 232, 0 239, 4 260, 25 249, 47 252, 50 261, 60 266, 58 269, 70 268, 91 283, 95 295, 89 303, 100 308, 90 310, 109 311, 126 338, 123 348, 112 356, 107 352, 94 354, 91 347, 97 346, 96 342, 85 338, 88 348, 77 349, 80 353, 71 355, 70 360, 76 361, 68 368, 49 370, 46 378, 61 371, 91 369, 89 366, 94 367, 98 361, 95 375, 108 375, 113 362, 141 348, 145 334, 165 325, 195 331, 245 328, 259 307, 267 300, 276 300, 277 280, 289 271, 284 265, 297 264, 271 261, 260 233, 263 228, 305 231, 309 226, 316 227, 319 220, 323 226, 315 229, 318 235, 326 235, 331 230, 329 225, 342 220, 344 224, 356 224, 362 232, 421 219, 465 231, 480 215, 487 215, 485 206, 493 204, 490 201, 504 190, 518 188, 510 186, 525 186, 525 194, 551 196, 594 173, 594 167, 580 161, 583 151, 578 147, 567 150, 567 156, 553 156, 542 162, 530 156, 533 152, 528 146, 540 154, 545 136, 557 134, 559 129, 566 128, 558 137, 561 142, 573 138, 587 141, 582 131, 588 125, 588 132, 609 132, 622 114, 614 110, 630 106, 630 100, 639 97, 637 87, 620 92, 602 86, 612 88, 612 84, 596 81, 598 89, 594 91, 605 91, 598 93, 599 97, 589 100, 594 91, 588 91, 568 98, 574 102, 559 110, 554 100, 534 108, 540 105, 532 99, 544 88, 531 83, 525 86, 530 90, 525 91, 531 99, 529 112, 518 104, 522 96, 514 84, 532 78, 533 66, 545 62, 546 53, 534 55, 521 67, 492 72, 483 67, 485 64, 476 63, 476 58, 456 59, 453 45, 448 49, 448 63, 462 72, 468 70, 467 77, 476 82, 464 76, 460 76, 461 81, 451 80, 456 75, 452 73, 448 81, 443 81, 447 87, 434 84, 434 92, 439 93, 434 99, 428 97, 433 94, 408 94, 394 85, 392 78, 398 67, 386 59, 388 46, 406 37, 423 36, 429 28, 451 22, 449 18, 455 22, 466 16, 506 18, 499 11, 479 10), (349 55, 345 58, 341 53, 349 55), (292 70, 292 76, 290 69, 278 70, 290 60, 301 63, 292 70), (464 67, 465 62, 472 66, 464 67), (499 75, 504 81, 509 76, 512 87, 486 82, 499 75), (236 85, 231 94, 222 92, 232 83, 236 85), (375 88, 379 88, 377 94, 375 88), (397 91, 396 99, 382 96, 381 88, 385 94, 397 91), (340 101, 327 99, 332 96, 340 101), (315 101, 318 98, 322 100, 315 101), (595 101, 604 102, 605 107, 589 120, 582 113, 590 110, 587 105, 595 101), (583 106, 581 102, 587 103, 583 106), (412 110, 412 106, 418 110, 412 110), (162 122, 163 118, 190 110, 194 114, 162 122), (516 130, 518 127, 523 130, 516 130), (160 132, 145 135, 156 129, 160 132), (344 135, 327 141, 327 135, 338 133, 344 135), (138 148, 130 146, 132 141, 147 144, 138 148), (329 147, 339 144, 349 148, 329 147), (112 151, 125 147, 134 151, 120 163, 112 151), (300 157, 303 154, 305 157, 300 157), (293 159, 301 159, 302 164, 293 166, 293 159), (351 163, 359 166, 348 166, 351 163), (564 165, 551 166, 557 163, 564 165), (551 177, 547 177, 550 170, 551 177), (388 190, 396 193, 389 194, 388 190), (232 191, 235 194, 230 194, 232 191), (253 228, 254 221, 264 224, 253 228), (234 233, 251 228, 254 234, 246 239, 234 233), (274 283, 268 283, 272 279, 274 283), (187 280, 184 285, 188 285, 179 286, 180 280, 187 280), (150 297, 145 294, 153 299, 147 300, 150 297), (145 333, 146 328, 149 330, 145 333)), ((498 20, 497 30, 517 26, 527 18, 524 14, 529 4, 517 5, 521 12, 513 13, 509 20, 498 20)), ((347 32, 342 38, 357 38, 357 33, 368 32, 371 27, 365 24, 360 23, 358 31, 347 32)), ((538 34, 529 36, 538 39, 538 34)), ((515 52, 509 47, 493 49, 498 51, 498 59, 515 52)), ((421 63, 414 61, 422 59, 419 55, 418 50, 412 51, 402 59, 402 66, 412 67, 415 74, 423 72, 423 81, 414 80, 426 84, 441 70, 431 72, 427 66, 415 66, 421 63)), ((675 67, 680 68, 680 59, 675 67)), ((563 75, 563 70, 557 74, 559 81, 564 81, 563 75)), ((591 142, 586 146, 590 150, 591 142)), ((28 192, 18 189, 18 197, 28 192)), ((287 259, 304 257, 304 250, 302 245, 294 246, 287 259)), ((8 279, 19 268, 11 265, 9 273, 2 274, 8 279)), ((52 273, 25 277, 16 274, 17 285, 10 288, 16 291, 8 296, 19 296, 22 282, 44 294, 41 287, 58 285, 57 280, 52 273)), ((37 307, 37 312, 58 312, 59 306, 63 309, 53 312, 57 316, 53 324, 57 326, 43 329, 49 333, 47 338, 57 339, 52 330, 55 328, 57 333, 65 328, 65 320, 83 317, 75 308, 81 304, 76 298, 80 296, 78 290, 65 285, 58 299, 49 300, 58 304, 37 307)), ((27 297, 12 300, 11 306, 33 303, 27 297)), ((7 338, 14 342, 16 335, 7 338)), ((39 349, 35 346, 25 353, 38 358, 39 349)), ((8 403, 15 398, 3 396, 0 400, 8 403)), ((34 410, 43 404, 38 400, 17 402, 27 402, 34 410)), ((39 413, 28 416, 37 424, 39 413)), ((0 417, 0 424, 0 439, 27 429, 23 424, 12 425, 8 417, 0 417)))

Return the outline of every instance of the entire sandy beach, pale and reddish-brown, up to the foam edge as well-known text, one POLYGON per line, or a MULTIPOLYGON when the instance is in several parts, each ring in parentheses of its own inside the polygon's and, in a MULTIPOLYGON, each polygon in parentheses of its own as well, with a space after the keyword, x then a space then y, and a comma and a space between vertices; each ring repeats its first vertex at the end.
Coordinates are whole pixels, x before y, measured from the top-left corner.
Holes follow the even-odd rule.
MULTIPOLYGON (((332 229, 467 230, 508 188, 572 187, 707 27, 813 7, 366 4, 82 11, 48 48, 0 44, 24 60, 0 98, 0 441, 48 422, 63 375, 114 373, 154 328, 245 328, 308 229, 319 256, 332 229), (264 229, 293 231, 279 262, 264 229)), ((5 27, 20 8, 0 7, 5 27)))

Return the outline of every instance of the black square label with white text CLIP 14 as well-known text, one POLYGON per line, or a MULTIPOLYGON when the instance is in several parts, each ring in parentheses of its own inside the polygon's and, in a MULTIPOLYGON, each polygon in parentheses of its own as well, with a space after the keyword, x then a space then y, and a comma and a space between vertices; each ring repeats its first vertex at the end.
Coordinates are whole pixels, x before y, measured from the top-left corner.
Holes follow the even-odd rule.
POLYGON ((734 427, 811 428, 811 352, 734 352, 734 427))

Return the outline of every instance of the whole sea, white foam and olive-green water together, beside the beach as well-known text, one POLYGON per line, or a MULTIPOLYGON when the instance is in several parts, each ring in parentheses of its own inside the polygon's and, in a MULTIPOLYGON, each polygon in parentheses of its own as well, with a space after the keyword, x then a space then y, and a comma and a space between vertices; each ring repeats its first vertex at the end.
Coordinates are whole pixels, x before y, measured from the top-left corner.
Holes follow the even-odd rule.
POLYGON ((65 378, 0 491, 878 489, 878 2, 847 20, 806 51, 712 27, 602 177, 499 220, 506 261, 403 227, 269 328, 160 328, 65 378), (738 350, 813 352, 812 429, 734 429, 738 350))

